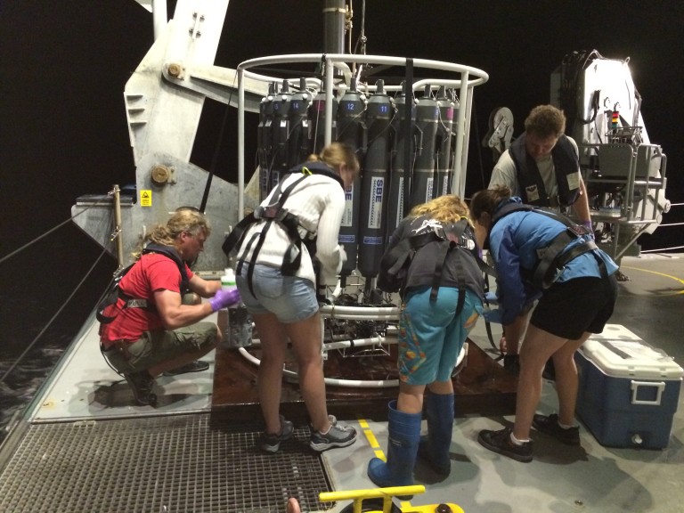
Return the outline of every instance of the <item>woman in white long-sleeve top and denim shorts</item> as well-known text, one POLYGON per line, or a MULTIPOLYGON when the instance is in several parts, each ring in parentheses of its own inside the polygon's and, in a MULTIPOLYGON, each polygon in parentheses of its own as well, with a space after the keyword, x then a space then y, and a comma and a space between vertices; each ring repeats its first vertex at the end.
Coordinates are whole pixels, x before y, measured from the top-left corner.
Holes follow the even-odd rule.
POLYGON ((328 415, 316 273, 307 242, 312 247, 315 240, 320 284, 336 283, 346 260, 338 242, 345 191, 358 173, 354 151, 331 143, 289 170, 256 209, 255 221, 240 239, 236 283, 262 348, 257 387, 266 425, 260 443, 265 452, 277 452, 293 433, 292 422, 280 413, 288 338, 313 428, 311 447, 324 451, 356 439, 354 428, 328 415))

